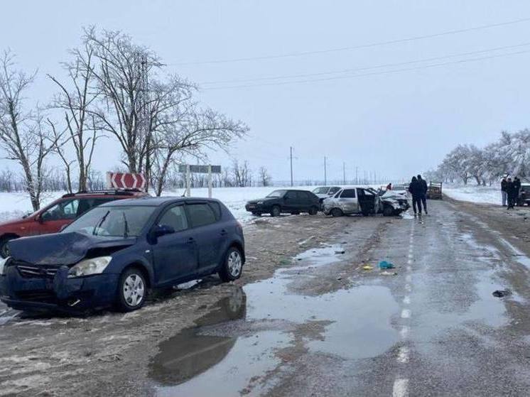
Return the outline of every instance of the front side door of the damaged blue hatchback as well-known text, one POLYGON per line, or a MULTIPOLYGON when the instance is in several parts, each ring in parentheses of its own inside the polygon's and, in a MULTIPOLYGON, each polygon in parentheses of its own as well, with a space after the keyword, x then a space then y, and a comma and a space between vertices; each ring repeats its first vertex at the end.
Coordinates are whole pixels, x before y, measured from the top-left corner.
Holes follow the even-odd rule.
POLYGON ((175 233, 158 237, 152 248, 158 284, 171 283, 197 272, 197 241, 193 229, 190 229, 188 224, 183 205, 173 205, 158 217, 156 225, 175 229, 175 233))

